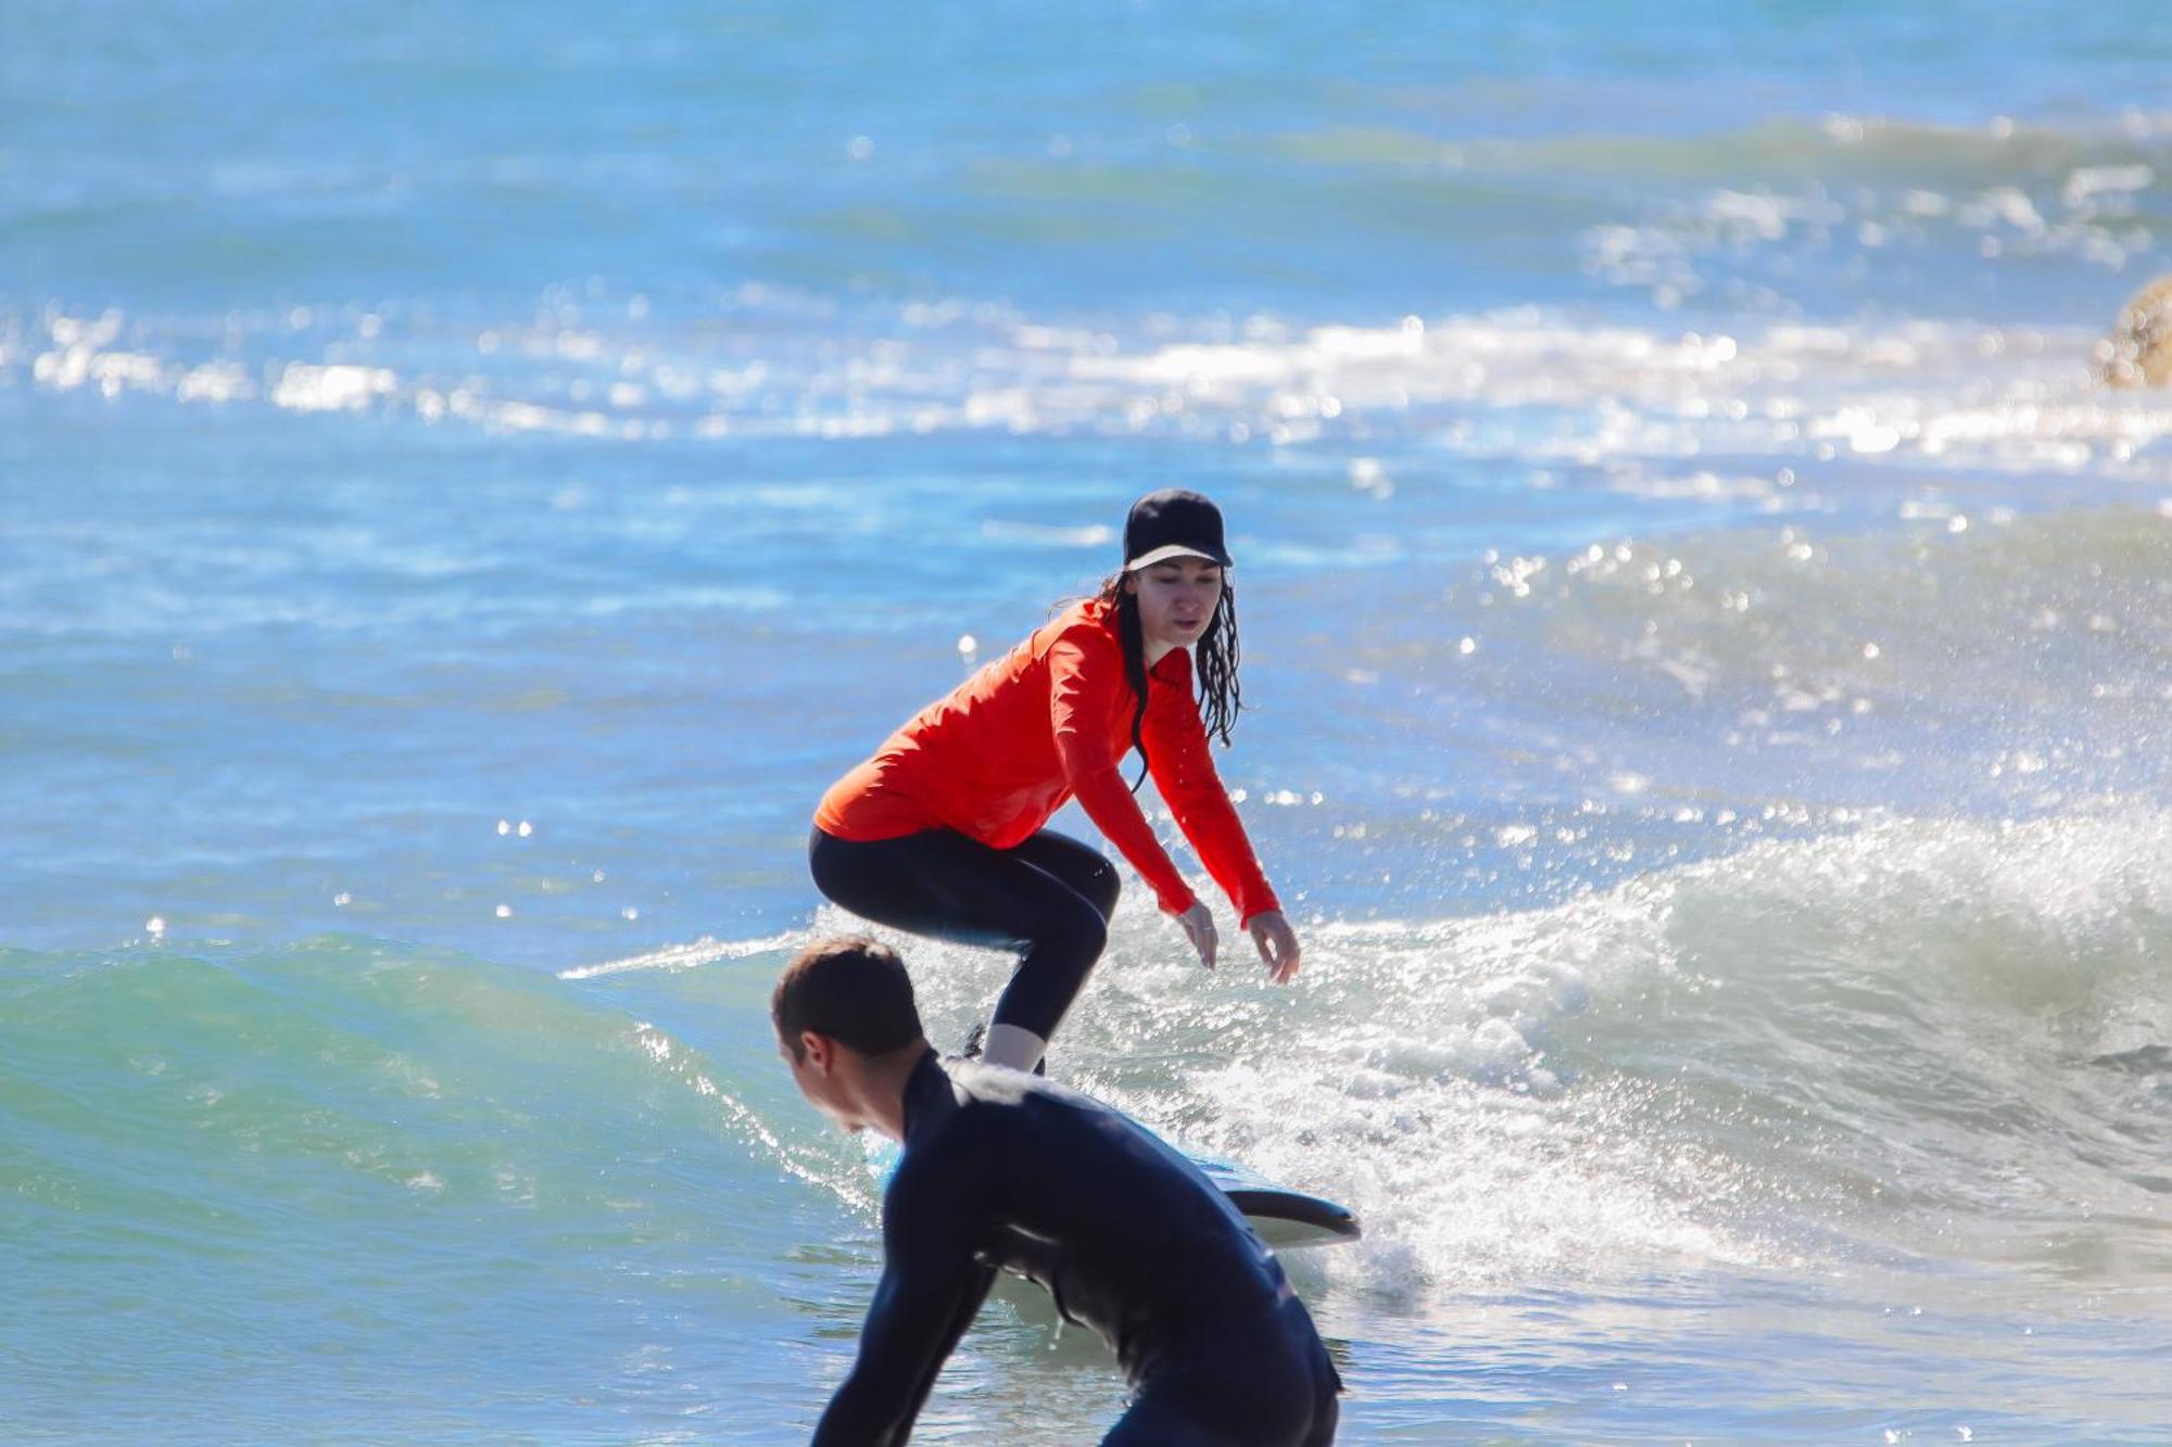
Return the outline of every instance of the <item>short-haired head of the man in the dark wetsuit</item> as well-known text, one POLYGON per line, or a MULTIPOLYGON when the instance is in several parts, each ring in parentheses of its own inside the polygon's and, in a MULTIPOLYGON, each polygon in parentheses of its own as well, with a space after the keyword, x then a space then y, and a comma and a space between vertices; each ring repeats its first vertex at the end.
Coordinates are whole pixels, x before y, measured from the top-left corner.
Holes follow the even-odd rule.
POLYGON ((817 1110, 845 1130, 897 1134, 904 1067, 925 1039, 895 949, 864 936, 815 941, 778 978, 769 1019, 778 1054, 817 1110))

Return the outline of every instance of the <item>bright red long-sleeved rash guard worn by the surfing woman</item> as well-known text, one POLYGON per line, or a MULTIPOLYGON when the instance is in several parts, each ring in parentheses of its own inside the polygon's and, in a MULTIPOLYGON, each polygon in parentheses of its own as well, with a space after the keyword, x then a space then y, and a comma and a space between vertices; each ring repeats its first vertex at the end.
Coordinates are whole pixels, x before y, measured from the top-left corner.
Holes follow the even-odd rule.
MULTIPOLYGON (((1116 769, 1132 747, 1134 702, 1114 608, 1075 604, 921 708, 830 787, 815 823, 860 843, 947 828, 1010 850, 1077 795, 1086 817, 1153 886, 1162 910, 1182 915, 1197 895, 1116 769)), ((1238 919, 1281 908, 1208 756, 1186 650, 1169 650, 1149 671, 1140 732, 1153 787, 1238 919)))

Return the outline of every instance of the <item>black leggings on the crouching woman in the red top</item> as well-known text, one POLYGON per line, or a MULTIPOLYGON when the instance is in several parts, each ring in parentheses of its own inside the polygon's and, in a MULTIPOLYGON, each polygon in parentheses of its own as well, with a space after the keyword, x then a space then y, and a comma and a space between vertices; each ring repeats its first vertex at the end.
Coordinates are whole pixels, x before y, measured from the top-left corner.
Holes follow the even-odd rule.
POLYGON ((854 843, 808 836, 815 889, 860 919, 1014 949, 1019 969, 995 1004, 997 1026, 1056 1034, 1108 943, 1116 867, 1099 850, 1040 830, 1014 850, 990 850, 956 830, 854 843))

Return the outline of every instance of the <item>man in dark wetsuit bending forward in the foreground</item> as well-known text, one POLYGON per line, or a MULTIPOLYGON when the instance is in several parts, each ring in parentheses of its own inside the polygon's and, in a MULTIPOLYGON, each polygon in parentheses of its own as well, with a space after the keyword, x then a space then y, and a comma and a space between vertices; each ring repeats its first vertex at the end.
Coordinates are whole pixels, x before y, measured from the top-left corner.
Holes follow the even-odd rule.
POLYGON ((808 945, 769 1012, 815 1108, 906 1147, 860 1356, 817 1445, 904 1443, 997 1269, 1116 1349, 1132 1408, 1103 1443, 1334 1440, 1342 1382, 1312 1317, 1184 1156, 1077 1091, 938 1060, 904 962, 875 941, 808 945))

